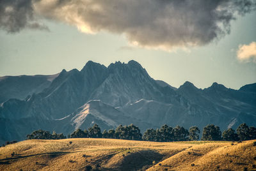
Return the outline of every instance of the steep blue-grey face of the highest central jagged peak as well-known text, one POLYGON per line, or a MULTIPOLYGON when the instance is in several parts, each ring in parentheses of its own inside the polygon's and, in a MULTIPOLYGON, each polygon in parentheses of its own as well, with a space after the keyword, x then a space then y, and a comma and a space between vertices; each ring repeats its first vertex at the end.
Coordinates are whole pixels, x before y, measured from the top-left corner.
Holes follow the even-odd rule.
POLYGON ((175 91, 159 86, 136 61, 116 62, 108 66, 109 77, 95 89, 90 99, 101 100, 113 107, 141 100, 173 101, 175 91))

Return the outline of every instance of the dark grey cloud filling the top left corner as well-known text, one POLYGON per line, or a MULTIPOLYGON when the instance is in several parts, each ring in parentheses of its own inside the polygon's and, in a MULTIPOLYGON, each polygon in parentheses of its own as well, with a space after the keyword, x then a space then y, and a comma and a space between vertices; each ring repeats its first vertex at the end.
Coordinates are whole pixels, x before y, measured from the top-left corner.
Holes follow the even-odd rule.
POLYGON ((28 0, 0 1, 0 28, 15 33, 24 28, 49 30, 36 22, 32 2, 28 0))

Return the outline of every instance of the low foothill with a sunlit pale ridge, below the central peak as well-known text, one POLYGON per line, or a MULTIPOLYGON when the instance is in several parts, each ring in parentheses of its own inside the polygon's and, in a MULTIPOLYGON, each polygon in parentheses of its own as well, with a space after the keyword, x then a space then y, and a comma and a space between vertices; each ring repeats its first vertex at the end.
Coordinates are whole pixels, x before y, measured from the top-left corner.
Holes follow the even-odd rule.
POLYGON ((88 101, 82 107, 77 108, 76 112, 67 115, 63 119, 56 119, 56 121, 63 124, 58 124, 58 127, 55 127, 55 129, 65 133, 70 133, 77 128, 92 127, 95 123, 99 125, 102 131, 116 128, 119 124, 128 125, 131 123, 140 125, 142 131, 145 131, 147 128, 156 128, 156 126, 145 123, 143 120, 127 116, 116 110, 116 108, 102 103, 100 100, 88 101))

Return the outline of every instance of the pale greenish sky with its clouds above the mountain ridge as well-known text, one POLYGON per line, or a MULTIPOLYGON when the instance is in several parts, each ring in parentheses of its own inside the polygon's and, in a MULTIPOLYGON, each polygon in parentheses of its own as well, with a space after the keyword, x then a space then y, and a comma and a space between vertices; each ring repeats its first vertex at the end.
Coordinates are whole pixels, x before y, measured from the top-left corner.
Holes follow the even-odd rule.
POLYGON ((0 76, 138 61, 150 77, 204 89, 256 82, 250 0, 3 0, 0 76))

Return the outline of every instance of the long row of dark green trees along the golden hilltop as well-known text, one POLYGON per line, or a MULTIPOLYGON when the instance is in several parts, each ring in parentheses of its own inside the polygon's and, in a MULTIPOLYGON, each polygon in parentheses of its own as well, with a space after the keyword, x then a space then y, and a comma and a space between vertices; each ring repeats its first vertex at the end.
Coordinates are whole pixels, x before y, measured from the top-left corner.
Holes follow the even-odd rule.
MULTIPOLYGON (((100 127, 94 124, 88 130, 77 129, 68 138, 115 138, 123 140, 144 140, 153 142, 176 142, 176 141, 195 141, 199 140, 200 130, 197 126, 192 126, 187 130, 183 126, 172 128, 167 124, 154 130, 148 129, 140 133, 140 128, 134 124, 129 126, 119 125, 115 130, 104 130, 101 132, 100 127)), ((57 134, 55 131, 51 134, 49 131, 37 130, 27 135, 27 139, 63 139, 66 138, 63 133, 57 134)), ((201 140, 227 140, 227 141, 243 141, 256 139, 256 128, 248 127, 245 123, 240 124, 236 131, 232 128, 221 133, 220 127, 214 124, 208 124, 204 127, 201 140)))

